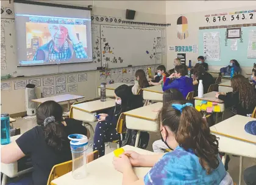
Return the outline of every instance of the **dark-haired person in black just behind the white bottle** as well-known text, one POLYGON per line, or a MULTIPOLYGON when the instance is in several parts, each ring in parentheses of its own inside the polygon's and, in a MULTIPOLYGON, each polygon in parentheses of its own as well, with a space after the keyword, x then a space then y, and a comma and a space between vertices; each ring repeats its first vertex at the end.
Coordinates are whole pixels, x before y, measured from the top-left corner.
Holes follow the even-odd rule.
POLYGON ((202 84, 204 86, 204 94, 208 92, 210 85, 215 83, 215 79, 213 78, 213 76, 210 73, 205 72, 204 67, 201 65, 196 65, 193 68, 193 74, 193 85, 194 92, 196 92, 196 95, 198 91, 199 80, 202 79, 202 84))

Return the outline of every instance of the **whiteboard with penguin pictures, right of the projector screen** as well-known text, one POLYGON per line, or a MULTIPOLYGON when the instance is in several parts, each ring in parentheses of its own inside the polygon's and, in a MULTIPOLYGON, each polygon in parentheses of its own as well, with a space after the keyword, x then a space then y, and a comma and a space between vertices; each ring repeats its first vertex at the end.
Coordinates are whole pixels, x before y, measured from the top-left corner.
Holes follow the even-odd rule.
POLYGON ((108 68, 162 63, 162 30, 101 25, 102 64, 108 68))

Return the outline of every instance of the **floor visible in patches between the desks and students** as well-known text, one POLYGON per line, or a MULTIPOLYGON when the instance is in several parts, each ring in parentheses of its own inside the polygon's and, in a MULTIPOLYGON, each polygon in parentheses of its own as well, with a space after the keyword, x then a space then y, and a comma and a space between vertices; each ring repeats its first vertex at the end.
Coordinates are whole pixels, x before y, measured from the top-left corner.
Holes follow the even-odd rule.
MULTIPOLYGON (((32 127, 37 126, 35 118, 32 118, 32 119, 15 118, 15 119, 16 119, 16 122, 13 123, 13 127, 20 128, 21 133, 24 133, 27 130, 31 129, 32 127)), ((93 123, 93 127, 95 126, 96 126, 96 123, 93 123)), ((152 151, 152 143, 155 140, 159 140, 159 139, 160 139, 159 133, 158 134, 150 133, 150 140, 149 140, 149 145, 147 147, 147 150, 152 151)), ((91 152, 93 150, 92 147, 90 146, 91 143, 93 143, 93 141, 90 140, 88 152, 91 152)), ((108 146, 105 147, 106 153, 112 152, 113 150, 116 149, 116 144, 111 143, 110 146, 111 146, 110 148, 108 146)), ((230 156, 230 158, 231 160, 229 163, 229 173, 233 178, 233 181, 238 184, 240 158, 239 156, 230 156)), ((254 165, 256 165, 256 159, 244 158, 243 170, 249 166, 254 166, 254 165)), ((241 185, 246 185, 246 184, 244 183, 244 181, 242 181, 241 185)))

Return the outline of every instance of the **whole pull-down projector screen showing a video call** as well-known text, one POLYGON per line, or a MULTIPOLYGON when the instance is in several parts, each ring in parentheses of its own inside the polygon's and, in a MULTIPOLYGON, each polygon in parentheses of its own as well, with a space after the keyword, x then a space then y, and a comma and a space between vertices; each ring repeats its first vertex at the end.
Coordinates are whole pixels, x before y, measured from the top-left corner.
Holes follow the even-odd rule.
POLYGON ((18 67, 92 62, 90 10, 41 4, 14 3, 18 67))

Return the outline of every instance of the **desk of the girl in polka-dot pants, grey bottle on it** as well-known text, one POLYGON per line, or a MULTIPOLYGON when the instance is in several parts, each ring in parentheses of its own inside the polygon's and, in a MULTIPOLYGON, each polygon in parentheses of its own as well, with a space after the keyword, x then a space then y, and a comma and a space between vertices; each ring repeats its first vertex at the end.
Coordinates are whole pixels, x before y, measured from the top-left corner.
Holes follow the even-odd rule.
POLYGON ((71 106, 70 118, 78 119, 86 123, 93 123, 97 121, 95 115, 104 109, 114 107, 115 99, 107 98, 106 101, 95 100, 86 103, 75 104, 71 106))

